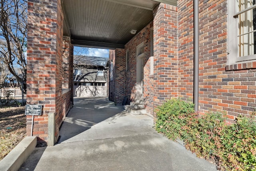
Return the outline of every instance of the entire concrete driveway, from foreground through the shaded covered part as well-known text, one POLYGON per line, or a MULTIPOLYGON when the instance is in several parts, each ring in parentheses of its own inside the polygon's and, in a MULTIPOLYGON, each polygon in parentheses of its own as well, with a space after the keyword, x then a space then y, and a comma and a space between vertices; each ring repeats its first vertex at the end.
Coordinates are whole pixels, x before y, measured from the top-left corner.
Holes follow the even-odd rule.
POLYGON ((105 98, 75 98, 58 144, 36 148, 20 171, 216 171, 152 126, 105 98))

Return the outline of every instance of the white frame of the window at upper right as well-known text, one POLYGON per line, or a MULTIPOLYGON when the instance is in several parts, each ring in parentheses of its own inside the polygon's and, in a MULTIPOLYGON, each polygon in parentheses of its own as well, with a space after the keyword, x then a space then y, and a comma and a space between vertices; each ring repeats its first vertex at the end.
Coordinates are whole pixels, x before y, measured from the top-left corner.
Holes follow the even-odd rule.
MULTIPOLYGON (((247 61, 256 61, 256 54, 249 56, 239 56, 239 47, 238 47, 238 36, 239 36, 239 28, 238 28, 238 15, 243 10, 239 12, 238 0, 228 0, 228 64, 240 64, 247 61)), ((256 5, 253 5, 256 7, 256 5)), ((252 7, 254 8, 254 7, 252 7)))

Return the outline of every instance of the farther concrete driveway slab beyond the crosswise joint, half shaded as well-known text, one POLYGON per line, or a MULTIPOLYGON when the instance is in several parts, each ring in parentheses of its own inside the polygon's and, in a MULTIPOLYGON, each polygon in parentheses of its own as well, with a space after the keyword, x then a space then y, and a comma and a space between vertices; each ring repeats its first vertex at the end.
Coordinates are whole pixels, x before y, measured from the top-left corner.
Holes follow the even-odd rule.
POLYGON ((74 97, 74 107, 62 123, 58 143, 154 133, 152 124, 152 117, 131 115, 105 97, 74 97))

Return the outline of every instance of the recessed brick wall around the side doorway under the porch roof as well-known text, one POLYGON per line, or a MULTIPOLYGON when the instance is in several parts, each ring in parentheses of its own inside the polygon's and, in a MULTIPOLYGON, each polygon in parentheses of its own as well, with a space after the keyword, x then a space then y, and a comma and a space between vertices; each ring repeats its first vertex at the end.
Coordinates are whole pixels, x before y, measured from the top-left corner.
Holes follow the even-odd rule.
POLYGON ((129 51, 129 69, 125 73, 125 96, 127 103, 136 100, 136 60, 137 46, 144 45, 144 105, 149 114, 153 114, 153 78, 150 78, 150 31, 153 22, 143 28, 126 45, 125 52, 129 51))

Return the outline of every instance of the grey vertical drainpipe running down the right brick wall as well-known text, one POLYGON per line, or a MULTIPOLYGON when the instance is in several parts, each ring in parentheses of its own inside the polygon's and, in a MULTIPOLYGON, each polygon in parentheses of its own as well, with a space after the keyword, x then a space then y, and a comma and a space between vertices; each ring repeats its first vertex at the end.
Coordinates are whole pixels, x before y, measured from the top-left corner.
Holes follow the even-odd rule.
POLYGON ((194 0, 194 104, 198 112, 199 96, 199 2, 194 0))

